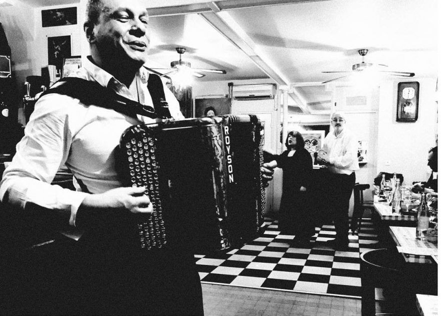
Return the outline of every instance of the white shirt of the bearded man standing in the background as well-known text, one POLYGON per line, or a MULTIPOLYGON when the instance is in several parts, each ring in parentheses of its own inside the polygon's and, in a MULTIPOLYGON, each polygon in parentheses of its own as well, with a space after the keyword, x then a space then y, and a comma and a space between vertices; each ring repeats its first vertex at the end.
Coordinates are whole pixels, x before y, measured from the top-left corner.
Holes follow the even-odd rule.
POLYGON ((347 128, 337 136, 333 131, 329 132, 323 141, 323 149, 329 154, 330 172, 350 175, 360 169, 357 156, 358 141, 347 128))

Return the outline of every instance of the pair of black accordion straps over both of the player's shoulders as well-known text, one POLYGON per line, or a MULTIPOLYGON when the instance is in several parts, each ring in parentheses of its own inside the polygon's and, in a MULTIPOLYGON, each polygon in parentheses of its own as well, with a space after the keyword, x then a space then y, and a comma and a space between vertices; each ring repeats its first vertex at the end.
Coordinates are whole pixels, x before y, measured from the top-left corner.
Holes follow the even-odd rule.
POLYGON ((76 77, 65 77, 60 79, 53 85, 53 87, 51 87, 51 89, 43 93, 43 95, 50 93, 68 95, 79 99, 84 104, 113 109, 131 117, 136 117, 136 114, 150 118, 171 117, 159 76, 153 74, 149 76, 148 88, 155 108, 123 97, 115 91, 103 87, 97 82, 76 77), (166 107, 166 109, 163 107, 166 107))

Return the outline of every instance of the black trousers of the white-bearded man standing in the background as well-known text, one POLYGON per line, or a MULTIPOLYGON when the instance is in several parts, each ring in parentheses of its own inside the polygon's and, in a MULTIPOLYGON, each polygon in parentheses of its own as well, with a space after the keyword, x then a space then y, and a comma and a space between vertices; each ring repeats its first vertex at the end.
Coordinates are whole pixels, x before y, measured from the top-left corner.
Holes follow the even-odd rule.
POLYGON ((335 225, 336 239, 347 243, 349 200, 355 184, 355 173, 350 175, 331 174, 329 184, 331 217, 335 225))

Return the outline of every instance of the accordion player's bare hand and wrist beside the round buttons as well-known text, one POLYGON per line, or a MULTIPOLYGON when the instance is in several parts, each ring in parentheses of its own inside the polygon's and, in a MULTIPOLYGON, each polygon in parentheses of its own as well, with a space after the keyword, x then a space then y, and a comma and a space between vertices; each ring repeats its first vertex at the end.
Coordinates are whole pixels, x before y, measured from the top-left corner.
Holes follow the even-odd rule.
POLYGON ((127 210, 131 213, 152 214, 153 205, 144 194, 144 187, 116 188, 100 194, 86 196, 81 208, 89 210, 127 210))

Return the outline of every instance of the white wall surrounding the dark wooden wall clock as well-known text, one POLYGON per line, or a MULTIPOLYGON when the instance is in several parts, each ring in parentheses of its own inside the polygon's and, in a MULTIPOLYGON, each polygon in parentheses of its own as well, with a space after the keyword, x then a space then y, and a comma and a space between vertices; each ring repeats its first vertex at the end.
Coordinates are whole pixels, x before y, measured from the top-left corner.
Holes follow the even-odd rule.
POLYGON ((436 79, 414 78, 419 82, 418 119, 416 122, 396 122, 398 82, 384 82, 380 86, 378 109, 377 172, 403 174, 404 183, 426 181, 427 151, 435 146, 437 108, 435 103, 436 79), (390 166, 386 166, 386 162, 390 166))

